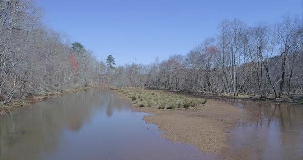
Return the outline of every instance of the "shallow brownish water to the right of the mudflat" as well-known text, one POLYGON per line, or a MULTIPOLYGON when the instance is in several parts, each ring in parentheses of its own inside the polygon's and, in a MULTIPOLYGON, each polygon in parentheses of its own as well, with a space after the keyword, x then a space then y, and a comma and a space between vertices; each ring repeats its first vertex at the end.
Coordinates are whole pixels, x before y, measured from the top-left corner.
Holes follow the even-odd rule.
POLYGON ((226 159, 303 159, 303 106, 226 101, 248 118, 231 132, 226 159))

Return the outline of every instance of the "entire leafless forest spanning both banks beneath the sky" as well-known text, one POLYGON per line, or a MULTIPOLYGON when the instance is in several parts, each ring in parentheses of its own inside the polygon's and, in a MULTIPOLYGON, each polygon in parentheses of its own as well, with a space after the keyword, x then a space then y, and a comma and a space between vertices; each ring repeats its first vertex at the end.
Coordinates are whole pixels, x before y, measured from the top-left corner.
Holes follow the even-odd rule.
POLYGON ((34 1, 0 1, 1 104, 103 84, 261 98, 303 92, 303 28, 296 15, 254 26, 224 20, 213 37, 201 39, 187 54, 124 66, 117 66, 111 53, 102 55, 109 55, 106 61, 97 59, 81 43, 45 26, 42 18, 34 1))

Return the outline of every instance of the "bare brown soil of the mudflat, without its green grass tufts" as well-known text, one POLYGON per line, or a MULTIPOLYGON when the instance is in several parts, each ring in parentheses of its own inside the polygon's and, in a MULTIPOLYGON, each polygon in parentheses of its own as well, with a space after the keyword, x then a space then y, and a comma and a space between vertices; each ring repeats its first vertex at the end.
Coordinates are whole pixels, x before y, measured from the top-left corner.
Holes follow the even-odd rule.
MULTIPOLYGON (((142 91, 148 92, 149 90, 142 91)), ((161 91, 151 92, 155 95, 155 92, 157 94, 161 91)), ((129 97, 129 95, 121 92, 118 93, 124 98, 129 97)), ((166 92, 165 94, 174 93, 166 92)), ((166 101, 172 101, 169 96, 167 97, 166 101)), ((186 97, 188 98, 188 96, 186 97)), ((136 102, 132 101, 132 103, 136 105, 136 102)), ((172 142, 195 145, 203 153, 219 154, 222 148, 228 147, 225 141, 229 137, 230 130, 239 124, 240 119, 244 119, 240 108, 213 99, 209 99, 204 105, 190 107, 189 109, 158 109, 157 106, 135 108, 153 114, 145 116, 143 119, 146 123, 156 124, 159 130, 164 132, 161 137, 172 142)))

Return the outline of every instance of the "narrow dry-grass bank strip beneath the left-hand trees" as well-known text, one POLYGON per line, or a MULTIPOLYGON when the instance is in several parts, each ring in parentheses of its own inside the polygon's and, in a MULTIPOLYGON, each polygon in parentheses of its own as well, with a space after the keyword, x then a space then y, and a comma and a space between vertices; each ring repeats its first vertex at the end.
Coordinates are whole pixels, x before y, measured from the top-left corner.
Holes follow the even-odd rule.
POLYGON ((63 92, 49 92, 44 95, 31 96, 31 97, 27 97, 25 99, 13 99, 11 102, 9 102, 3 106, 0 106, 0 115, 11 114, 11 111, 15 108, 28 106, 32 103, 43 101, 44 99, 56 98, 63 94, 72 94, 72 93, 75 93, 78 91, 88 90, 88 89, 98 88, 98 87, 101 87, 101 86, 77 87, 77 88, 72 88, 72 89, 66 89, 63 92))

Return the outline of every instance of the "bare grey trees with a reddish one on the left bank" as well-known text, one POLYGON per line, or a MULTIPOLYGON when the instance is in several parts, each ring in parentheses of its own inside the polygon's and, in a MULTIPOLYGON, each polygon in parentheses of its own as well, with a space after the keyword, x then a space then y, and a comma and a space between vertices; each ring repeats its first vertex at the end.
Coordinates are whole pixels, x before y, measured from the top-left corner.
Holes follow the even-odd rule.
POLYGON ((0 103, 98 85, 107 68, 81 43, 47 28, 32 0, 0 1, 0 103))

